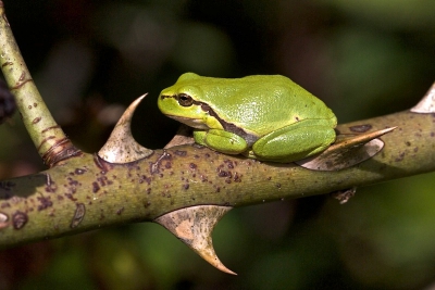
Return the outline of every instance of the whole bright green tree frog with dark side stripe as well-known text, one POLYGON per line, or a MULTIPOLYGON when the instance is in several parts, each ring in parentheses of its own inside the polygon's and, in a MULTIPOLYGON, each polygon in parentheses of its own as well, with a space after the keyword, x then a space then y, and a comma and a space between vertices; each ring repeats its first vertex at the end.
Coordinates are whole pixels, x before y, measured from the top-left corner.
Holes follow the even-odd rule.
POLYGON ((158 105, 194 127, 197 143, 226 154, 287 163, 335 141, 331 109, 279 75, 229 79, 186 73, 162 90, 158 105))

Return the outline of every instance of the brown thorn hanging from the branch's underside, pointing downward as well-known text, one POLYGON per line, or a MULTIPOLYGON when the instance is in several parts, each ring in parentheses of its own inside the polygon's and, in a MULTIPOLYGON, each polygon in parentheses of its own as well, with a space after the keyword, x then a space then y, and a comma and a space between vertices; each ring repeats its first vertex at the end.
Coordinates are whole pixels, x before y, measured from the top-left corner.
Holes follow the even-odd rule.
POLYGON ((197 205, 164 214, 154 219, 217 269, 237 275, 225 267, 214 252, 211 234, 231 206, 197 205))

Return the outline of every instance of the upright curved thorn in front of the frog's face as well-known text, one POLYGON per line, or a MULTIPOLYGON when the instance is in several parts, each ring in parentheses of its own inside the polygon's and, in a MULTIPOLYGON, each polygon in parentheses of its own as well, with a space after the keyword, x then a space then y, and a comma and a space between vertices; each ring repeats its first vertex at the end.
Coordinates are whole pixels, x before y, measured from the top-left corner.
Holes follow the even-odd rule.
POLYGON ((98 155, 101 159, 110 163, 129 163, 152 154, 152 150, 136 142, 130 129, 133 113, 146 96, 147 93, 137 98, 125 110, 110 135, 109 140, 98 151, 98 155))

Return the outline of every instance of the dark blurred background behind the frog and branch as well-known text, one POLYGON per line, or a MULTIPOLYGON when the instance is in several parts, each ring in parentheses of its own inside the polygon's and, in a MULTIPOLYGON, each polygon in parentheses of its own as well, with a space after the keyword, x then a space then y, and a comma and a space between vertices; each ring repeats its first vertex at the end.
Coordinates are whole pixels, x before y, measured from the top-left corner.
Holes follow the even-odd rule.
MULTIPOLYGON (((87 152, 145 92, 134 135, 162 148, 177 123, 156 101, 184 72, 282 74, 340 123, 407 110, 435 79, 435 1, 4 0, 57 121, 87 152)), ((391 124, 394 125, 394 124, 391 124)), ((44 169, 18 114, 0 126, 0 178, 44 169)), ((435 176, 231 212, 201 261, 158 225, 0 252, 1 289, 434 289, 435 176)))

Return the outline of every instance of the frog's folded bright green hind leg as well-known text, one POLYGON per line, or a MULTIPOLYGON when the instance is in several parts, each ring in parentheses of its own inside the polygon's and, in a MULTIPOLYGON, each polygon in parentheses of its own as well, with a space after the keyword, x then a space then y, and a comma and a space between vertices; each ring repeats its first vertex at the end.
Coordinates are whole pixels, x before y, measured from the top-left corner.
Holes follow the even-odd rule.
POLYGON ((327 149, 335 141, 335 130, 327 122, 304 119, 260 138, 252 146, 259 160, 293 162, 327 149))

